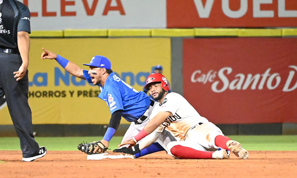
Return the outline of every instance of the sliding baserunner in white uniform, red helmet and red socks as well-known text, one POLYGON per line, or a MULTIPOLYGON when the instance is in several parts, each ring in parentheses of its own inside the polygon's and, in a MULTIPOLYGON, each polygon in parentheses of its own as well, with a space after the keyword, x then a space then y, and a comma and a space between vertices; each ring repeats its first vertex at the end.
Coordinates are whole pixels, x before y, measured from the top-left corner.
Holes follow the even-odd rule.
MULTIPOLYGON (((154 107, 146 126, 119 146, 129 144, 129 147, 133 146, 130 148, 132 150, 135 150, 134 147, 143 149, 159 138, 165 129, 177 140, 170 142, 166 149, 175 158, 229 159, 229 150, 242 159, 249 157, 239 142, 224 136, 216 125, 201 117, 184 97, 178 93, 168 93, 168 82, 162 74, 151 74, 146 83, 145 88, 159 104, 154 107), (140 140, 142 142, 135 146, 140 140)), ((124 149, 115 152, 129 153, 124 149)))

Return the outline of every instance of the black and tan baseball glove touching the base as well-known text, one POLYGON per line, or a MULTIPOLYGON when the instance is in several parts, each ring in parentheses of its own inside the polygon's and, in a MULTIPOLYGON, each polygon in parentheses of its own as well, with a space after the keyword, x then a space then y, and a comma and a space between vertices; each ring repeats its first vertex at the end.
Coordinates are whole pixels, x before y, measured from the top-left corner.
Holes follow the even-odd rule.
POLYGON ((100 141, 95 141, 92 143, 81 143, 77 146, 77 149, 88 154, 88 155, 93 155, 93 154, 99 154, 99 153, 104 153, 108 147, 106 147, 102 142, 100 141), (94 150, 95 148, 99 147, 99 150, 97 150, 95 153, 94 150))

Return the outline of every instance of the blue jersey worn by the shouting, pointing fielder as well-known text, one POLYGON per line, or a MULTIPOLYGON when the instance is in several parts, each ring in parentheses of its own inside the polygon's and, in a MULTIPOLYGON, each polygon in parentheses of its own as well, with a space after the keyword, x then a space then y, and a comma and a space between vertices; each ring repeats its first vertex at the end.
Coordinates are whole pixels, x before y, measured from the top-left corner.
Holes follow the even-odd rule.
MULTIPOLYGON (((83 70, 83 76, 92 83, 87 70, 83 70)), ((107 102, 110 113, 121 109, 122 117, 128 122, 137 121, 151 104, 151 99, 146 93, 135 90, 113 72, 107 77, 104 88, 100 84, 98 86, 101 90, 98 97, 107 102)))

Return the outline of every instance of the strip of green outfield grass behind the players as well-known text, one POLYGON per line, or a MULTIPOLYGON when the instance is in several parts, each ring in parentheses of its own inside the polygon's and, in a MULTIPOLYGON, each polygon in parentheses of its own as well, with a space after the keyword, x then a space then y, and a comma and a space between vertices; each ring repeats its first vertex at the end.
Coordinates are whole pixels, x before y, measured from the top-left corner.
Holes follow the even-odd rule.
MULTIPOLYGON (((246 150, 280 150, 297 151, 297 135, 289 136, 229 136, 241 143, 246 150)), ((40 146, 48 150, 77 150, 81 142, 93 142, 103 137, 36 137, 40 146)), ((116 149, 121 143, 122 137, 115 136, 110 140, 109 148, 116 149)), ((0 137, 0 150, 20 150, 20 142, 17 137, 0 137)))

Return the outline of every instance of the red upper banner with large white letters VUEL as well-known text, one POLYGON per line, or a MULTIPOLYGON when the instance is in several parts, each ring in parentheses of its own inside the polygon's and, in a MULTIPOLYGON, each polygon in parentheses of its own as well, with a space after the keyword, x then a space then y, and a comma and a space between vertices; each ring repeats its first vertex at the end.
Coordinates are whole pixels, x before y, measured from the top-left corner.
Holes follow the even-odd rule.
POLYGON ((296 0, 167 0, 167 28, 296 26, 296 0))

